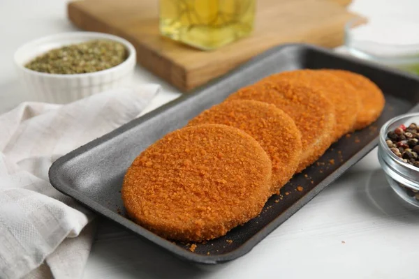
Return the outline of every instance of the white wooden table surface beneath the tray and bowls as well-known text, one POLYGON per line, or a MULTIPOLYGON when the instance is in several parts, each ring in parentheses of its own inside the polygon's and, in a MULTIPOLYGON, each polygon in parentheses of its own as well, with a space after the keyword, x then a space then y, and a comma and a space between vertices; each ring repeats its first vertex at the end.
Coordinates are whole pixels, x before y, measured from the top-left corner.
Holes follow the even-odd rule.
MULTIPOLYGON (((66 20, 65 2, 0 1, 0 112, 29 100, 14 71, 17 47, 75 30, 66 20)), ((351 9, 417 19, 419 1, 358 0, 351 9)), ((163 85, 147 111, 180 95, 140 67, 135 82, 163 85)), ((418 232, 419 210, 392 192, 374 150, 249 254, 210 271, 181 262, 100 220, 84 278, 419 278, 418 232)))

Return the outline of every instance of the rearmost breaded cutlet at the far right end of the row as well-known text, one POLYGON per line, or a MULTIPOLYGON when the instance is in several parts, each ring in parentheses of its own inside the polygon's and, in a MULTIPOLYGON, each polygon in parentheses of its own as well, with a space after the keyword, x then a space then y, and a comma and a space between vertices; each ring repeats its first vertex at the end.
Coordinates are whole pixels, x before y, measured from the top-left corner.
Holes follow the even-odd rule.
POLYGON ((383 112, 385 99, 383 92, 374 82, 363 75, 348 70, 325 69, 322 71, 340 77, 358 91, 361 107, 356 116, 355 130, 363 129, 378 119, 383 112))

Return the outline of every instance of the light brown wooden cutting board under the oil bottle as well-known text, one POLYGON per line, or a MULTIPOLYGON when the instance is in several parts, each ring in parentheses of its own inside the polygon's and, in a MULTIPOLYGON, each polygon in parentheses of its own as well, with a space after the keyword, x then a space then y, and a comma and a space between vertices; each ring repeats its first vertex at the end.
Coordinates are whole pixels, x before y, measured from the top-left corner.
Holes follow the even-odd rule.
POLYGON ((138 63, 191 91, 281 43, 341 45, 344 24, 356 15, 335 1, 342 0, 258 0, 251 36, 212 52, 160 36, 157 0, 74 1, 68 3, 68 17, 81 29, 126 38, 137 50, 138 63))

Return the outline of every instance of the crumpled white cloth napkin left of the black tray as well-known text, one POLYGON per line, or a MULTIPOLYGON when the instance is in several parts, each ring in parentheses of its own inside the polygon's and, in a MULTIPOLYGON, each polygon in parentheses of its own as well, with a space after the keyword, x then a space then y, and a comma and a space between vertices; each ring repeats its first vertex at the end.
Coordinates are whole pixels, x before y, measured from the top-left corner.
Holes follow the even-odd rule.
POLYGON ((94 216, 52 188, 48 169, 135 119, 159 89, 115 89, 68 105, 22 103, 0 116, 0 278, 82 276, 94 216))

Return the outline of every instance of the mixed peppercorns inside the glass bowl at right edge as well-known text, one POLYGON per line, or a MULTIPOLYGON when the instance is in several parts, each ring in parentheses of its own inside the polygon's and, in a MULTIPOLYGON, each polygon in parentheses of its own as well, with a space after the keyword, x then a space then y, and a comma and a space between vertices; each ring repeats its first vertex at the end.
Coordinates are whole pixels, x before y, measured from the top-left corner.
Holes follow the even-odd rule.
POLYGON ((419 167, 419 126, 411 123, 409 127, 401 125, 387 134, 388 147, 404 162, 419 167))

